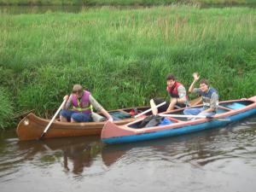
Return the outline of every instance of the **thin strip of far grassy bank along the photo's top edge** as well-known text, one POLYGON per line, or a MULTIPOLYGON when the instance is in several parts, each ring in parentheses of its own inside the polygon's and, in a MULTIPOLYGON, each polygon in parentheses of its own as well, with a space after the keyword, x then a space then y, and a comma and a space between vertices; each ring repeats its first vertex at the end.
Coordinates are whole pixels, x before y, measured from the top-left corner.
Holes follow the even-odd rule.
POLYGON ((0 5, 83 5, 83 6, 152 6, 189 3, 204 5, 250 5, 254 0, 0 0, 0 5))

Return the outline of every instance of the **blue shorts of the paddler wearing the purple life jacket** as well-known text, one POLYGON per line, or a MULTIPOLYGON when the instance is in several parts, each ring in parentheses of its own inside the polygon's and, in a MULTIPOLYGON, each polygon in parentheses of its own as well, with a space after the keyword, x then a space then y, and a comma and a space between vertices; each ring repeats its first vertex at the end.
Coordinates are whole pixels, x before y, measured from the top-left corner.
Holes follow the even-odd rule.
POLYGON ((71 118, 74 119, 74 121, 76 122, 91 121, 89 113, 80 113, 80 112, 62 109, 60 114, 62 117, 66 118, 67 121, 70 121, 71 118))

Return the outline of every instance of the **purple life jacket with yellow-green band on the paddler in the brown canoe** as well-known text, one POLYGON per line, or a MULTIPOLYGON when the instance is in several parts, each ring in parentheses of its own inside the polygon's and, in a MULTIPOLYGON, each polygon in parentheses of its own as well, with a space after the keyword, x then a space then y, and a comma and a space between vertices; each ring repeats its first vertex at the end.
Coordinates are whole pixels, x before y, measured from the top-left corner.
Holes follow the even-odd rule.
POLYGON ((90 105, 89 101, 90 92, 87 90, 84 90, 83 96, 79 99, 77 99, 72 94, 72 105, 73 105, 73 111, 82 112, 82 113, 91 113, 92 106, 90 105))

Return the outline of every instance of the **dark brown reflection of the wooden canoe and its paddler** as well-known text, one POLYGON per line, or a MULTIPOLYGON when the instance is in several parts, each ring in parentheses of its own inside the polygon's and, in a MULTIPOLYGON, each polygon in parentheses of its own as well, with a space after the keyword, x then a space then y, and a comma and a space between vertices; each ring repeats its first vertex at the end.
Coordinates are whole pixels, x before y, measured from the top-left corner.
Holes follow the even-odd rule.
POLYGON ((39 166, 60 162, 65 172, 80 174, 90 167, 97 154, 101 154, 100 137, 64 137, 30 142, 19 142, 26 152, 25 160, 38 161, 39 166))

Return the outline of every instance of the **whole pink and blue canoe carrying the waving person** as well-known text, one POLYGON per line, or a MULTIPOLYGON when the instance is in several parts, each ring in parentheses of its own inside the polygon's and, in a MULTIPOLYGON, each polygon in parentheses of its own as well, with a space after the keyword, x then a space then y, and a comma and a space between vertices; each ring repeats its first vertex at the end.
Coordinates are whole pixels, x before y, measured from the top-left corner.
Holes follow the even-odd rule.
POLYGON ((255 113, 256 96, 253 96, 246 100, 219 102, 218 113, 212 119, 205 116, 201 116, 201 119, 188 119, 187 116, 183 115, 183 109, 177 109, 172 113, 162 113, 166 114, 162 116, 167 118, 167 125, 139 128, 143 119, 137 119, 126 125, 115 125, 113 122, 107 122, 102 129, 101 137, 102 142, 108 144, 131 143, 160 137, 172 137, 228 125, 231 122, 245 119, 255 113))

